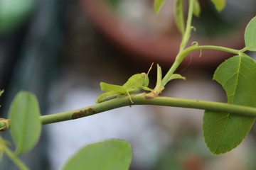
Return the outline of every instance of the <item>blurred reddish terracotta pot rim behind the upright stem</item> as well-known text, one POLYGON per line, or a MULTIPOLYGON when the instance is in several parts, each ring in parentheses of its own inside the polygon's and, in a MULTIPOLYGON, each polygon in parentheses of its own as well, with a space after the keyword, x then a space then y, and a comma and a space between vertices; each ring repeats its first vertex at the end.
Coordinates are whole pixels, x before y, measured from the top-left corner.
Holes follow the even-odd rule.
MULTIPOLYGON (((174 30, 171 35, 161 36, 138 34, 134 27, 121 23, 114 10, 107 6, 105 1, 80 0, 80 3, 95 25, 117 45, 132 52, 132 56, 142 57, 142 60, 156 63, 171 64, 174 62, 181 41, 181 35, 177 31, 174 30)), ((238 26, 233 33, 225 36, 210 39, 193 36, 191 39, 199 42, 199 45, 220 45, 240 49, 244 45, 243 32, 249 20, 250 18, 245 20, 245 24, 238 26)), ((195 67, 215 67, 232 55, 216 50, 203 50, 201 57, 199 57, 199 52, 193 52, 191 56, 193 57, 186 58, 185 64, 191 60, 191 64, 195 67)))

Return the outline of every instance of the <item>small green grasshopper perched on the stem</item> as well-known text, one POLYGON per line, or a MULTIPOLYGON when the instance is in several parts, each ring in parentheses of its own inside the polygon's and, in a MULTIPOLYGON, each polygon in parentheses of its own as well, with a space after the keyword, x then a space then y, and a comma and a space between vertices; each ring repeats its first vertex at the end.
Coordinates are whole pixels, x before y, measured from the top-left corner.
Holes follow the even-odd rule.
POLYGON ((152 89, 149 89, 147 86, 149 86, 149 77, 148 74, 152 68, 152 65, 149 68, 149 71, 147 73, 139 73, 134 74, 132 77, 130 77, 127 82, 122 85, 115 85, 115 84, 107 84, 105 82, 100 82, 100 89, 102 91, 105 91, 104 94, 101 94, 98 98, 96 103, 102 103, 103 101, 109 101, 113 98, 117 98, 119 96, 129 96, 129 101, 133 103, 132 97, 130 94, 134 94, 140 90, 145 91, 153 91, 152 89))

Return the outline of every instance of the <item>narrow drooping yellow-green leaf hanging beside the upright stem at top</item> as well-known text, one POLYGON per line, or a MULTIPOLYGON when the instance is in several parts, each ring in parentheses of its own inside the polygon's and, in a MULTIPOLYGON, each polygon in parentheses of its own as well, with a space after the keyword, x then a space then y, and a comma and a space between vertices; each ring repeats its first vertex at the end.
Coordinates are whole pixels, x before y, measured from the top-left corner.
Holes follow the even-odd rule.
POLYGON ((183 0, 176 0, 175 3, 175 22, 179 32, 184 35, 185 25, 183 16, 183 0))

